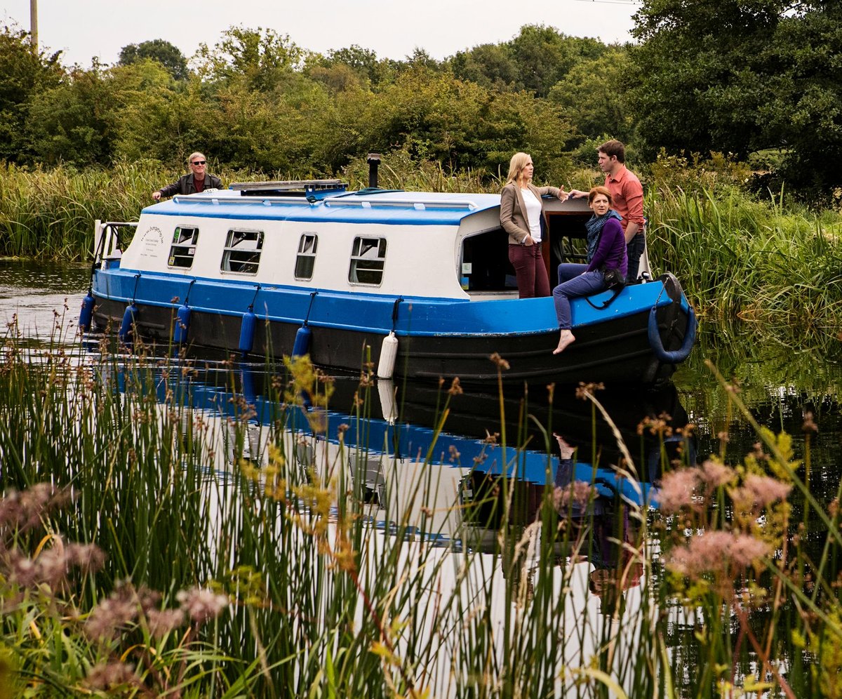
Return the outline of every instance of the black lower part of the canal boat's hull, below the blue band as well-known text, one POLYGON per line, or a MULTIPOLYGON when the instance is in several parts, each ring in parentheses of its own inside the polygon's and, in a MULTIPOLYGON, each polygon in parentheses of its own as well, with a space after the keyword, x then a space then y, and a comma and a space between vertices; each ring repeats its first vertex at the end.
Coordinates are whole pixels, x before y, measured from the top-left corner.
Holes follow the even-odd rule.
MULTIPOLYGON (((125 305, 99 298, 93 321, 101 328, 120 326, 125 305)), ((553 355, 557 331, 520 337, 400 337, 395 376, 437 381, 458 376, 466 384, 496 381, 498 367, 490 356, 497 353, 509 365, 506 382, 661 382, 674 372, 674 365, 658 360, 647 336, 649 312, 612 318, 605 323, 576 328, 576 341, 561 355, 553 355)), ((136 330, 142 339, 169 344, 176 322, 175 310, 138 304, 136 330)), ((237 353, 241 319, 194 311, 187 333, 189 355, 203 349, 237 353)), ((658 330, 663 348, 680 347, 687 317, 679 304, 658 309, 658 330)), ((292 352, 299 326, 258 320, 252 357, 280 357, 292 352)), ((376 368, 383 336, 339 328, 310 326, 309 354, 318 366, 360 371, 366 362, 376 368)))

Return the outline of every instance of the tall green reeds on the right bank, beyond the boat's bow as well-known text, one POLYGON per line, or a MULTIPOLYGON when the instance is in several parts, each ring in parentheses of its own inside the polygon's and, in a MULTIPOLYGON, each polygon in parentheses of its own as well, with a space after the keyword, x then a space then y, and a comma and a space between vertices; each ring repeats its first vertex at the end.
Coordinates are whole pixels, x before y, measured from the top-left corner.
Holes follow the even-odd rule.
POLYGON ((842 313, 842 221, 703 190, 650 192, 649 257, 678 275, 702 313, 817 337, 842 313))

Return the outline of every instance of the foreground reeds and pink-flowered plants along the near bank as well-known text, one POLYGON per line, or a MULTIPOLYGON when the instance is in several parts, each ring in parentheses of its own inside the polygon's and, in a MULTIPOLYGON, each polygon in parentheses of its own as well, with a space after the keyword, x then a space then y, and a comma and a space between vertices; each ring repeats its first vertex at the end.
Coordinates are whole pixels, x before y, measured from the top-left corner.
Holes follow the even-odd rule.
MULTIPOLYGON (((367 374, 339 416, 323 409, 330 380, 288 365, 256 420, 233 367, 207 409, 204 375, 176 360, 78 365, 29 354, 13 330, 2 351, 8 694, 834 696, 839 494, 807 488, 823 472, 809 422, 797 442, 755 425, 744 459, 720 435, 720 456, 674 463, 660 514, 609 499, 610 558, 583 484, 547 489, 518 520, 505 480, 448 500, 434 449, 413 469, 345 446, 348 423, 365 434, 376 413, 367 374), (296 413, 308 427, 293 433, 296 413), (354 479, 372 459, 379 506, 354 479)), ((446 389, 445 430, 459 393, 446 389)), ((594 388, 580 394, 603 419, 594 388)), ((663 419, 642 430, 671 434, 663 419)))

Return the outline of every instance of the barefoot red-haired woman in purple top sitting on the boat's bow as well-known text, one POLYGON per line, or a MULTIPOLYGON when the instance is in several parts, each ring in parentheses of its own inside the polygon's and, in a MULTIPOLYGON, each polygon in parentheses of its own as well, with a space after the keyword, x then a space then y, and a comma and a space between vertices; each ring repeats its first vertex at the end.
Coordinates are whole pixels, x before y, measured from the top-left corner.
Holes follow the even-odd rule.
POLYGON ((608 288, 605 274, 612 270, 619 270, 620 278, 626 278, 626 237, 620 216, 611 211, 610 191, 594 187, 588 193, 588 205, 594 211, 594 216, 585 224, 588 228, 588 264, 559 264, 559 283, 552 290, 558 327, 562 330, 553 355, 564 351, 576 339, 570 329, 570 299, 605 291, 608 288))

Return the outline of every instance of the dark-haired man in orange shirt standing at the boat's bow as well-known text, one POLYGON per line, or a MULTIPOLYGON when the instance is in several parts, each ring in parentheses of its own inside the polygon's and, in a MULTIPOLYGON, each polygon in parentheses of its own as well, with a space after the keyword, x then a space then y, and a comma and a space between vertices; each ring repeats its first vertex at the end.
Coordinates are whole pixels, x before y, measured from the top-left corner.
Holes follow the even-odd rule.
MULTIPOLYGON (((611 193, 612 208, 620 214, 623 234, 626 237, 628 272, 626 282, 637 281, 640 256, 646 244, 643 224, 643 187, 637 175, 626 168, 626 147, 621 141, 605 141, 596 149, 600 170, 605 173, 605 186, 611 193)), ((571 197, 587 196, 587 192, 573 189, 571 197)))

